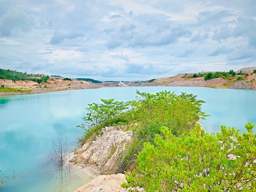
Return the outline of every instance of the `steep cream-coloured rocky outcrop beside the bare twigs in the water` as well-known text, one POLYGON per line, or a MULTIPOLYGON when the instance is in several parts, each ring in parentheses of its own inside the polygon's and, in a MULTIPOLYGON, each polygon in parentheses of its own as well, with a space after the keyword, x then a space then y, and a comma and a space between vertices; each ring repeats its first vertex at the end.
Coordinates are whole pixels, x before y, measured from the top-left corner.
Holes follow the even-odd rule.
POLYGON ((102 174, 115 173, 118 159, 132 141, 132 131, 124 130, 127 130, 127 125, 101 129, 98 136, 91 138, 75 152, 71 163, 81 167, 93 165, 102 174))

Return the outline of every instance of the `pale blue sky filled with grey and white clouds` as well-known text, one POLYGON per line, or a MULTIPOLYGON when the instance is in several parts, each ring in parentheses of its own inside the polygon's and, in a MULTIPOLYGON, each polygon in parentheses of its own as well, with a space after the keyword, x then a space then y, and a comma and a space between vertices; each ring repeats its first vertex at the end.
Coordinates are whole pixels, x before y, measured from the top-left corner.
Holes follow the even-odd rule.
POLYGON ((256 66, 256 0, 0 0, 0 68, 149 80, 256 66))

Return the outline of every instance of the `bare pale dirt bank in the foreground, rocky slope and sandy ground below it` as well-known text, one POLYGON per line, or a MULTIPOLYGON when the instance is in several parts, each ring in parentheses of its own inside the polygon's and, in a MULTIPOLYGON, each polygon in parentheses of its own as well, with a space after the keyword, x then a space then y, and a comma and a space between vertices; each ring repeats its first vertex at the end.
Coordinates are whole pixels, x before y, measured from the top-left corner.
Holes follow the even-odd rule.
MULTIPOLYGON (((135 125, 132 125, 135 126, 135 125)), ((91 137, 74 153, 71 163, 82 167, 94 180, 78 188, 76 192, 128 192, 120 184, 126 182, 124 174, 119 172, 118 162, 124 149, 132 141, 132 132, 128 125, 105 127, 101 134, 91 137)), ((142 191, 142 190, 140 190, 142 191)))

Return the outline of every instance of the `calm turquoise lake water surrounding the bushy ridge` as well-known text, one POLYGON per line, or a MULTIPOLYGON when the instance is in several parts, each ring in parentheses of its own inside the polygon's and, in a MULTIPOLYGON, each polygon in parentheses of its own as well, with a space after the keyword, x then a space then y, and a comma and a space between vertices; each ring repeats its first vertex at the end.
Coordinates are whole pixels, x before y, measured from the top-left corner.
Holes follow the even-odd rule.
MULTIPOLYGON (((135 92, 167 90, 197 95, 206 101, 202 111, 211 116, 201 120, 207 132, 220 132, 220 125, 246 131, 245 123, 256 123, 256 90, 212 89, 207 87, 104 87, 64 92, 0 97, 0 178, 3 192, 52 192, 53 169, 49 162, 52 139, 59 132, 67 135, 69 150, 76 147, 80 125, 88 103, 100 98, 134 100, 135 92)), ((254 129, 255 130, 255 129, 254 129)), ((72 169, 67 191, 87 183, 81 170, 72 169)), ((1 185, 0 185, 1 186, 1 185)))

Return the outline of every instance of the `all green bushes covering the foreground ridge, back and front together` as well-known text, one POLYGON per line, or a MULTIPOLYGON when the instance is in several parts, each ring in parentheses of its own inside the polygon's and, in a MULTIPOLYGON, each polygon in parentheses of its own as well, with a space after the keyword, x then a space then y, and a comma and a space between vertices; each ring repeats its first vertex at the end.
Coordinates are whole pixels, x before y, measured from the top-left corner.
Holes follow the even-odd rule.
POLYGON ((197 124, 207 115, 202 100, 192 94, 162 91, 137 93, 137 99, 119 102, 101 99, 89 104, 85 142, 101 134, 107 125, 134 124, 132 143, 117 160, 116 172, 126 173, 128 183, 148 192, 162 191, 248 191, 256 186, 256 135, 254 124, 247 133, 221 127, 205 133, 197 124), (89 125, 89 127, 87 127, 89 125))

